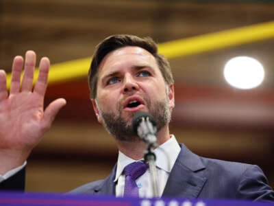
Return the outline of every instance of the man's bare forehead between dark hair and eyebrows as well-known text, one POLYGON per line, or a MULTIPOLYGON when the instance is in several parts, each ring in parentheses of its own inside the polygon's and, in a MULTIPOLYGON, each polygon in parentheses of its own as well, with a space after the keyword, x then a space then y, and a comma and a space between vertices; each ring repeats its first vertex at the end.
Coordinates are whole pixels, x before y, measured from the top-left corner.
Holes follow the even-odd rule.
MULTIPOLYGON (((156 66, 157 63, 154 56, 146 49, 135 46, 121 47, 107 54, 99 65, 99 73, 103 68, 114 69, 127 65, 148 64, 156 66)), ((105 70, 105 69, 104 69, 105 70)))

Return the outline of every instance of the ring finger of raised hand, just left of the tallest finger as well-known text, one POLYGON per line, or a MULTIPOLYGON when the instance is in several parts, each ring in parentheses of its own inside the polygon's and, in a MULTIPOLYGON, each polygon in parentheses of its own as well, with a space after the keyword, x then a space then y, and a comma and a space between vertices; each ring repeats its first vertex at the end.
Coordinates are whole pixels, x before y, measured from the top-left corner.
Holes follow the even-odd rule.
POLYGON ((23 62, 24 59, 22 56, 14 57, 12 63, 12 80, 10 82, 10 94, 18 93, 20 91, 20 80, 23 62))

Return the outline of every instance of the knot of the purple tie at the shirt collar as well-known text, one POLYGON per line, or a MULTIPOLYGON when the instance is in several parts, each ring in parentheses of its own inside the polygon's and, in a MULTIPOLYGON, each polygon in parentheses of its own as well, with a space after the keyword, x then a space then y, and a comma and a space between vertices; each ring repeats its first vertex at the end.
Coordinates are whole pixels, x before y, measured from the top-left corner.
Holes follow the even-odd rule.
POLYGON ((125 166, 124 174, 125 176, 132 176, 134 181, 144 174, 147 171, 147 164, 143 161, 136 161, 134 163, 130 163, 129 165, 125 166))

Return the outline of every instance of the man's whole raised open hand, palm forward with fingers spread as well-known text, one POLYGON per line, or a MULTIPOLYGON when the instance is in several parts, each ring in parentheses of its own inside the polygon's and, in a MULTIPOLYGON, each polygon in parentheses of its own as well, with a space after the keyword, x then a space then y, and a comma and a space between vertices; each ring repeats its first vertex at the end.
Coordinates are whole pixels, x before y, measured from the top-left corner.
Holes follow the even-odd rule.
POLYGON ((60 98, 45 108, 49 58, 40 60, 38 79, 33 88, 36 54, 25 54, 24 60, 16 56, 12 65, 10 93, 6 88, 5 71, 0 70, 0 174, 22 165, 50 128, 55 115, 66 100, 60 98))

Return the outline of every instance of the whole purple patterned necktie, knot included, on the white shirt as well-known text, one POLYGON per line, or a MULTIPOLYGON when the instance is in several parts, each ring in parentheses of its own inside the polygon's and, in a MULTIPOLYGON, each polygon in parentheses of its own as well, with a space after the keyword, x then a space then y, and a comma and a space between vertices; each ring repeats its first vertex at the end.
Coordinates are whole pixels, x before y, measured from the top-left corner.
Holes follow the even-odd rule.
POLYGON ((124 196, 139 196, 138 186, 135 180, 144 174, 147 170, 147 164, 143 161, 137 161, 127 165, 123 171, 125 174, 125 190, 124 196))

